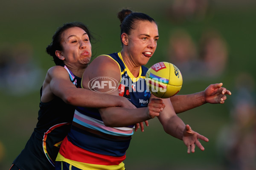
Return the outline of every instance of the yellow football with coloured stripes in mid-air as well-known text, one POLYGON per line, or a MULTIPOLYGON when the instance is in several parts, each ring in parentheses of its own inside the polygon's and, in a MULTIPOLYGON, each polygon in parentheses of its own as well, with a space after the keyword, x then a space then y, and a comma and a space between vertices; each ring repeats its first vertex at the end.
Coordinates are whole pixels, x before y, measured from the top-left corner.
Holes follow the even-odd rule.
POLYGON ((183 82, 180 70, 169 62, 157 62, 152 65, 145 80, 149 91, 163 99, 177 94, 183 82))

